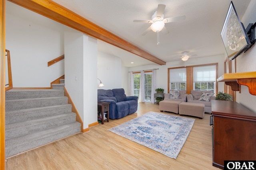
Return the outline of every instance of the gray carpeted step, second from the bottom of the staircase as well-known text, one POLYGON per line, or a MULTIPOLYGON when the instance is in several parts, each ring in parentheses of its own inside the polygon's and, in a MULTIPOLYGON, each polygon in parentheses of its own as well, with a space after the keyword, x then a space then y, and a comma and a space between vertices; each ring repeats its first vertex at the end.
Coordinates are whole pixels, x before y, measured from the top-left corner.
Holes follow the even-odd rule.
POLYGON ((59 126, 74 121, 76 121, 76 114, 66 113, 36 120, 11 123, 6 125, 5 135, 6 139, 9 139, 12 137, 26 135, 28 133, 33 133, 34 131, 38 131, 40 129, 47 129, 49 127, 59 126))

